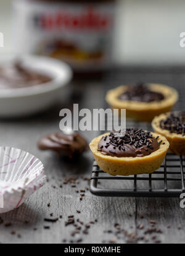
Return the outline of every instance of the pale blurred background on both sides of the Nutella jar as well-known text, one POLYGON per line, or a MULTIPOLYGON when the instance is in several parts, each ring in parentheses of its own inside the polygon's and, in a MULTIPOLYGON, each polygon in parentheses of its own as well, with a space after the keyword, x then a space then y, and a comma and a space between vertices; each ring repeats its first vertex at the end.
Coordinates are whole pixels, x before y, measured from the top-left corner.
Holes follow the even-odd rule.
MULTIPOLYGON (((14 53, 19 35, 12 3, 0 2, 0 32, 4 33, 2 53, 14 53)), ((179 46, 179 34, 184 31, 185 2, 183 0, 118 0, 116 11, 113 59, 125 65, 184 64, 185 49, 179 46)))

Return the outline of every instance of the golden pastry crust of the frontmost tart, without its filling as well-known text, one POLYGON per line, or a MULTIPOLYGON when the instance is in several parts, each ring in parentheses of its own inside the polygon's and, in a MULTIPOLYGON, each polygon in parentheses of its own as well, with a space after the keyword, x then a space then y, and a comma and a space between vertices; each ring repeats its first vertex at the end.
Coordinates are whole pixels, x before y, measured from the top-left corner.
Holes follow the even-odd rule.
POLYGON ((113 176, 128 176, 133 174, 153 173, 156 169, 160 168, 169 147, 168 140, 165 137, 151 132, 154 137, 158 136, 158 142, 160 140, 162 140, 162 142, 160 143, 160 148, 152 152, 150 155, 136 157, 117 157, 103 155, 101 151, 97 150, 97 145, 101 140, 102 136, 108 134, 109 133, 102 134, 99 137, 96 137, 89 144, 89 147, 100 168, 106 173, 109 173, 113 176))

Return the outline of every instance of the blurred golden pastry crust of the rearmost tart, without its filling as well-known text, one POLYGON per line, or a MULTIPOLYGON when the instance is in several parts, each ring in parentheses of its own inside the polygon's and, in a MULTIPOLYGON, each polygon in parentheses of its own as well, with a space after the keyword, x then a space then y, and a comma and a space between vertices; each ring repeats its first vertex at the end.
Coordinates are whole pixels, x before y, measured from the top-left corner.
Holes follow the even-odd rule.
POLYGON ((161 101, 141 102, 141 101, 122 101, 118 96, 126 92, 128 85, 121 85, 109 90, 106 101, 112 109, 126 109, 126 117, 132 117, 138 121, 152 121, 155 116, 166 113, 175 105, 178 100, 178 92, 167 85, 149 83, 149 89, 154 92, 162 93, 165 98, 161 101))

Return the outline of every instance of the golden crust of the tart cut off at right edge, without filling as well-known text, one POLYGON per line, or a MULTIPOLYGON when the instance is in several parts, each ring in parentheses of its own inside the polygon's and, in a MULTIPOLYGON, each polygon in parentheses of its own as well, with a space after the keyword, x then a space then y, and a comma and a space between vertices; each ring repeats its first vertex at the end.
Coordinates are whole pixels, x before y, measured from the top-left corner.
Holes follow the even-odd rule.
POLYGON ((177 155, 185 155, 185 137, 183 134, 176 134, 175 132, 170 132, 170 130, 165 130, 160 128, 160 121, 166 119, 170 113, 160 114, 160 116, 156 116, 152 121, 152 128, 158 134, 162 134, 165 136, 170 143, 169 150, 172 153, 177 155))

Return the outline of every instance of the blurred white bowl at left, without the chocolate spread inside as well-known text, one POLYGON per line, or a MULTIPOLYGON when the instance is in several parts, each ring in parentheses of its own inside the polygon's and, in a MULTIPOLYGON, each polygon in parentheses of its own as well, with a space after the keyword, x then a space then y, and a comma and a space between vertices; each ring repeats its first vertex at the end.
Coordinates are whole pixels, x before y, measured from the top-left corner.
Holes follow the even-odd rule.
POLYGON ((48 74, 51 82, 23 88, 0 90, 0 117, 20 117, 35 114, 66 99, 67 84, 72 79, 72 69, 65 62, 40 56, 1 56, 0 66, 21 59, 30 69, 48 74))

